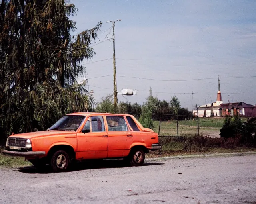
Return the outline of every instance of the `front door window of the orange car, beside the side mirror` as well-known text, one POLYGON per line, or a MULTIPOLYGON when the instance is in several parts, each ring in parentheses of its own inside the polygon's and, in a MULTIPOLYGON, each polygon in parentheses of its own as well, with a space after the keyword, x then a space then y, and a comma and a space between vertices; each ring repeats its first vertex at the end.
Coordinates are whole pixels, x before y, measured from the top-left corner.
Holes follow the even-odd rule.
POLYGON ((104 120, 102 116, 92 116, 88 118, 84 128, 83 132, 104 132, 105 131, 105 125, 104 120))

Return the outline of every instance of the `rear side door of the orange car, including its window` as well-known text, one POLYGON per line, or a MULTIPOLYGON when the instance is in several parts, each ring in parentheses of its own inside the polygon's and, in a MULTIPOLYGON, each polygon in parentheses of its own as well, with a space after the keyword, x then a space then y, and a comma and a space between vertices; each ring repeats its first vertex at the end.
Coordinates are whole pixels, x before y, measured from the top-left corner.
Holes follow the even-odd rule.
POLYGON ((106 116, 106 121, 108 124, 108 158, 128 155, 133 136, 124 116, 106 116))

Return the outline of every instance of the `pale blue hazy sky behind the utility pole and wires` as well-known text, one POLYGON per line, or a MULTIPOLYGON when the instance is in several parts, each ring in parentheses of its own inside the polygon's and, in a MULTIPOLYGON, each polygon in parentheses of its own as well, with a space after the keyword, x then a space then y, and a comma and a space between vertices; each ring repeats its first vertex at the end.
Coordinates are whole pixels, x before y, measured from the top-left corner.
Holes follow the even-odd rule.
POLYGON ((151 87, 159 99, 170 101, 176 95, 181 106, 191 110, 196 104, 216 101, 220 75, 224 103, 233 100, 255 105, 255 0, 70 3, 79 10, 71 17, 76 21, 76 33, 103 23, 98 39, 92 43, 96 56, 84 61, 86 73, 78 78, 88 79, 87 88, 94 91, 98 102, 113 92, 112 25, 106 21, 122 19, 115 26, 117 88, 136 89, 137 95, 118 95, 118 101, 142 104, 151 87), (104 75, 110 76, 94 78, 104 75))

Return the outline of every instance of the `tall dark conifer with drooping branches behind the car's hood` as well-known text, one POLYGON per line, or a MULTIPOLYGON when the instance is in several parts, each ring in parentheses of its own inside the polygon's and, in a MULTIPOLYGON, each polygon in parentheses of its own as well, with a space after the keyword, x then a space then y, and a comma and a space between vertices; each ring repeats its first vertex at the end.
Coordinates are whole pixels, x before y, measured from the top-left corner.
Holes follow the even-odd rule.
MULTIPOLYGON (((87 111, 93 98, 76 78, 92 59, 96 27, 72 36, 74 4, 64 0, 0 3, 0 126, 45 129, 66 112, 87 111)), ((86 81, 84 81, 84 84, 86 81)))

